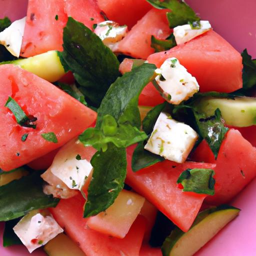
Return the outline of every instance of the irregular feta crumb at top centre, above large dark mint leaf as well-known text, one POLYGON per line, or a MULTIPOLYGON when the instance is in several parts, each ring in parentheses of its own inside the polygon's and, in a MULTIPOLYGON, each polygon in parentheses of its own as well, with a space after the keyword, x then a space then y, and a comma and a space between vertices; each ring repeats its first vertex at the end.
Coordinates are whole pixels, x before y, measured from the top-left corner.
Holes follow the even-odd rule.
POLYGON ((105 45, 113 50, 116 42, 126 35, 127 26, 119 26, 114 21, 106 20, 97 24, 94 33, 99 36, 105 45))

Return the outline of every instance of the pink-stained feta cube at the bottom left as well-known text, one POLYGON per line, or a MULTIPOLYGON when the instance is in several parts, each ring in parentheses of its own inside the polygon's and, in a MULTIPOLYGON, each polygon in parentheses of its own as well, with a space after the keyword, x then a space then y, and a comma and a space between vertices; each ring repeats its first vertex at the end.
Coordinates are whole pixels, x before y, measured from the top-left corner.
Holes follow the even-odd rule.
POLYGON ((45 215, 38 211, 26 214, 13 227, 13 230, 30 253, 63 232, 50 214, 45 215))

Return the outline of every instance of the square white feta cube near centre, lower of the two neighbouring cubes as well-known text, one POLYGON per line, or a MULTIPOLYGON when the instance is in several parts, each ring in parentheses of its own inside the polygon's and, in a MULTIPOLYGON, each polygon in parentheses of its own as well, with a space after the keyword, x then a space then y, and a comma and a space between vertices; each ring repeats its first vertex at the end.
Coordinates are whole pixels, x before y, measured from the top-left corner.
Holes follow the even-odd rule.
POLYGON ((161 112, 144 148, 165 159, 182 163, 197 139, 197 133, 187 124, 161 112))

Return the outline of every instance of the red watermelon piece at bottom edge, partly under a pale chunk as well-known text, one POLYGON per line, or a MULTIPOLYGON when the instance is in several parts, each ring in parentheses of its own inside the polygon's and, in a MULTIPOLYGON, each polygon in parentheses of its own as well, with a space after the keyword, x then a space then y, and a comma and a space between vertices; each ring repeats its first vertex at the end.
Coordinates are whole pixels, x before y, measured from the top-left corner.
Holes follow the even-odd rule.
POLYGON ((119 239, 89 229, 86 224, 88 219, 82 217, 83 204, 84 199, 79 194, 69 199, 61 199, 55 208, 50 208, 50 211, 66 234, 87 256, 139 255, 145 231, 143 216, 138 215, 126 236, 119 239))

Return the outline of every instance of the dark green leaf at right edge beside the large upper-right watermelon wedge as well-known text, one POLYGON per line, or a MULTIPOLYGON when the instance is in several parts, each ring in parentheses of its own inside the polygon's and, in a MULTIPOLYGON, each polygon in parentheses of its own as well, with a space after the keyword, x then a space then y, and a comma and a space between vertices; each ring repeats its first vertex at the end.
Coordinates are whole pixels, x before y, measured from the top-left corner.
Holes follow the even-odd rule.
POLYGON ((247 49, 241 53, 242 56, 242 87, 249 89, 256 85, 256 59, 251 59, 247 49))

